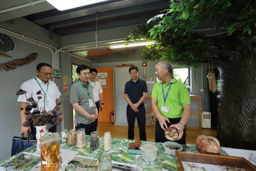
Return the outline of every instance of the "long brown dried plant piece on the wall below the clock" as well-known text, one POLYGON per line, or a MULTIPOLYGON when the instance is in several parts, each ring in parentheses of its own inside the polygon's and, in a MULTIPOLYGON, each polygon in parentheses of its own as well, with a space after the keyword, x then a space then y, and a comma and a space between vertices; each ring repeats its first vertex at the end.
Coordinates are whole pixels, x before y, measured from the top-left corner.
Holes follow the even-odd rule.
POLYGON ((11 61, 6 62, 6 63, 0 63, 0 70, 1 71, 2 71, 2 69, 5 70, 5 71, 14 70, 17 67, 29 64, 30 62, 35 60, 36 57, 37 57, 37 53, 31 53, 26 58, 14 59, 14 60, 11 60, 11 61))

